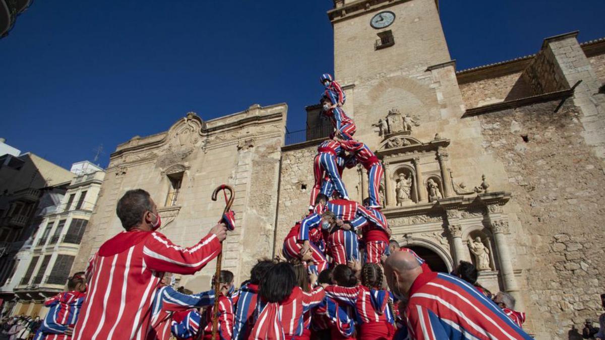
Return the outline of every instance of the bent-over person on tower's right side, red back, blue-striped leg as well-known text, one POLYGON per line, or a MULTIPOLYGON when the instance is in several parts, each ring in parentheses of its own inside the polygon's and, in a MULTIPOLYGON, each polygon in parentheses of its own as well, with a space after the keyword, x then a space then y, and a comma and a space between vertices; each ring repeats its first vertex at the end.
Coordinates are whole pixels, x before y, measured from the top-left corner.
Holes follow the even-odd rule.
POLYGON ((381 209, 378 189, 384 175, 382 163, 374 152, 362 142, 357 140, 344 140, 340 142, 342 149, 355 155, 355 160, 368 171, 368 195, 370 196, 370 208, 381 209))

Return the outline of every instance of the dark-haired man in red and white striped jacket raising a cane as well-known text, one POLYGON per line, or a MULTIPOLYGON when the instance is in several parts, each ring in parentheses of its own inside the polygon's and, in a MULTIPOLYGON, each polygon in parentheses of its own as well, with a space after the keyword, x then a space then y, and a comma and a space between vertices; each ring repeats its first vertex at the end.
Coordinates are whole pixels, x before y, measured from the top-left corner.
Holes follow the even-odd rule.
POLYGON ((192 247, 173 244, 155 231, 160 215, 142 189, 127 191, 116 212, 126 230, 105 241, 91 258, 88 293, 74 329, 77 340, 145 338, 164 272, 197 272, 217 257, 226 237, 226 226, 219 223, 192 247))

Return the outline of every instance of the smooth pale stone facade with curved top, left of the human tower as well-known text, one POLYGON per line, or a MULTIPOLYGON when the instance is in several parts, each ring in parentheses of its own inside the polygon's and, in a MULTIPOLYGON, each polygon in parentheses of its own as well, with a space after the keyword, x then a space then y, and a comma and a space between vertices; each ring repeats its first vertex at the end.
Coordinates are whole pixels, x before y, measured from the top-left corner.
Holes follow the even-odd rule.
MULTIPOLYGON (((188 114, 169 131, 119 145, 72 272, 85 269, 100 245, 123 230, 116 204, 127 190, 147 190, 162 215, 160 232, 175 244, 192 246, 219 220, 222 194, 217 202, 211 195, 224 183, 235 191, 237 228, 224 244, 223 269, 234 272, 237 282, 248 278, 257 258, 272 255, 286 111, 286 105, 253 105, 208 122, 188 114), (168 174, 178 172, 183 173, 182 185, 171 206, 166 204, 168 174)), ((212 261, 201 272, 183 276, 180 284, 208 289, 214 268, 212 261)))

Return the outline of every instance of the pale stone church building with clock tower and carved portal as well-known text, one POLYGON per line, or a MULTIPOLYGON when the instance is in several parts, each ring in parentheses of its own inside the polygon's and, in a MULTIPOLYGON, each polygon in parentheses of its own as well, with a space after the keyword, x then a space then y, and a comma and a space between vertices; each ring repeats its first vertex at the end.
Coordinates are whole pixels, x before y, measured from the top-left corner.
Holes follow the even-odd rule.
MULTIPOLYGON (((384 164, 393 238, 436 270, 473 261, 483 286, 517 298, 536 338, 567 338, 572 325, 598 316, 605 41, 561 34, 532 56, 456 71, 434 0, 336 0, 328 16, 344 110, 356 139, 384 164), (386 25, 381 14, 391 18, 386 25)), ((239 227, 223 267, 247 278, 257 258, 280 255, 306 212, 325 137, 316 131, 326 124, 318 105, 307 113, 313 128, 293 145, 284 145, 285 104, 205 122, 190 113, 166 132, 119 145, 73 271, 121 230, 115 208, 126 190, 148 190, 162 207, 162 232, 189 246, 220 216, 210 195, 227 183, 239 227)), ((362 168, 343 178, 352 199, 367 196, 362 168)), ((211 265, 181 284, 208 288, 212 273, 211 265)))

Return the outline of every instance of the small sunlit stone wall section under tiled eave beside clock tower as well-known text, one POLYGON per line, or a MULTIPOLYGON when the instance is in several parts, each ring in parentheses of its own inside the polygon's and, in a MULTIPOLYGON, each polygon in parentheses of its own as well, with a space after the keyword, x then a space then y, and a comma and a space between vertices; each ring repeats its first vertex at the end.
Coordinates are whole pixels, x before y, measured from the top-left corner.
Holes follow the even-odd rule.
POLYGON ((509 96, 521 74, 522 72, 515 72, 506 76, 461 83, 460 94, 462 94, 466 108, 476 108, 477 106, 503 102, 509 96))

